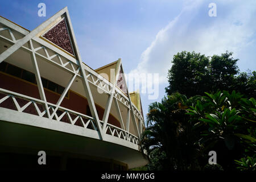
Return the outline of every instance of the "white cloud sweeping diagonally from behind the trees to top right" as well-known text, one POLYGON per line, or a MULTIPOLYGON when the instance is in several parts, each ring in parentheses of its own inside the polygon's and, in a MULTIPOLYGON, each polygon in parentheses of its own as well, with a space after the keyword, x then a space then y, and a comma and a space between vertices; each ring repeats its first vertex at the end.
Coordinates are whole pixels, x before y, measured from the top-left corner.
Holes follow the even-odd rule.
POLYGON ((186 3, 181 13, 158 32, 130 73, 159 73, 160 84, 166 84, 177 52, 196 51, 211 56, 228 50, 237 56, 255 38, 255 2, 215 1, 217 17, 208 16, 209 3, 186 3))

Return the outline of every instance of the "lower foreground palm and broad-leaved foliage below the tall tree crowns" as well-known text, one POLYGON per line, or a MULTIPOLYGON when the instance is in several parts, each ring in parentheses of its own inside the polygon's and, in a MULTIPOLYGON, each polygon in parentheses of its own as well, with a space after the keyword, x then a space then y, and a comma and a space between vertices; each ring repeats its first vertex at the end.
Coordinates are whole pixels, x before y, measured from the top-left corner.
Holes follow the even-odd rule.
POLYGON ((151 170, 208 170, 211 150, 218 169, 236 169, 234 160, 256 152, 256 102, 235 91, 189 99, 174 93, 149 106, 147 121, 141 147, 151 170))

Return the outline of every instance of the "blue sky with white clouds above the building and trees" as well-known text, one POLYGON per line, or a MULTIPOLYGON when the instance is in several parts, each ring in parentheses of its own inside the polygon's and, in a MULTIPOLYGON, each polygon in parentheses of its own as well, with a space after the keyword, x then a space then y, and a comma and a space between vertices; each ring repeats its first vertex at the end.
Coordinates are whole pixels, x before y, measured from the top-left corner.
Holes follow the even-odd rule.
MULTIPOLYGON (((119 57, 126 73, 159 73, 159 96, 142 94, 144 114, 168 85, 173 55, 196 51, 207 56, 226 50, 240 59, 240 71, 256 69, 256 1, 3 1, 0 15, 33 30, 68 6, 82 60, 93 69, 119 57), (46 17, 38 4, 46 3, 46 17), (208 15, 216 3, 217 16, 208 15)), ((130 92, 133 90, 130 90, 130 92)))

